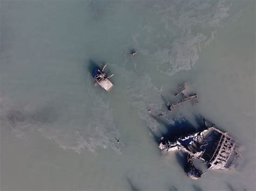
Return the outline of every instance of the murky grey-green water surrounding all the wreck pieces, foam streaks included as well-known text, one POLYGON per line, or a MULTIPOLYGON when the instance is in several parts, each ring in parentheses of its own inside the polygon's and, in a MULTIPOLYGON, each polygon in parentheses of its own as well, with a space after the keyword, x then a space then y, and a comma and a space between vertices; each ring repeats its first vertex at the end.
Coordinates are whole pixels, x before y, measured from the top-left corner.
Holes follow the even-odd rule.
POLYGON ((253 1, 0 5, 1 189, 254 189, 253 1), (110 93, 93 85, 93 62, 114 73, 110 93), (160 95, 172 101, 185 81, 199 105, 166 112, 160 95), (150 130, 167 129, 149 108, 170 125, 204 115, 245 156, 232 171, 190 180, 177 154, 160 155, 150 130))

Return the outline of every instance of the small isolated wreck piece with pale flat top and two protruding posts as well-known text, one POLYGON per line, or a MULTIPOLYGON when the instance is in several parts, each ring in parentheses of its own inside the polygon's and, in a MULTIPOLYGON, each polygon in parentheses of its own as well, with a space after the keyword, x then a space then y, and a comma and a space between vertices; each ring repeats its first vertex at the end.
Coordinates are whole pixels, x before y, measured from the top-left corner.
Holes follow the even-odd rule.
POLYGON ((104 65, 102 70, 100 70, 99 68, 95 68, 95 70, 93 70, 92 72, 92 77, 96 80, 95 84, 99 84, 99 86, 106 91, 110 91, 110 89, 113 87, 113 84, 111 83, 109 78, 112 77, 113 74, 107 77, 106 74, 103 72, 105 67, 106 65, 104 65))

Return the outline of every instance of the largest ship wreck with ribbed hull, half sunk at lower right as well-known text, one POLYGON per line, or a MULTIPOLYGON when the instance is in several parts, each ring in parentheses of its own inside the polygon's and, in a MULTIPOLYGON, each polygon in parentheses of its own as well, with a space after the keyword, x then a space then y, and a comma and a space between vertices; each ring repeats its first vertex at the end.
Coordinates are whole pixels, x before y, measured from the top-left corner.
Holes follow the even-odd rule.
MULTIPOLYGON (((204 123, 206 121, 204 119, 204 123)), ((194 159, 205 162, 207 168, 225 169, 231 166, 235 155, 236 140, 227 132, 220 131, 215 126, 203 128, 186 136, 172 140, 161 138, 159 148, 162 153, 181 151, 187 154, 186 174, 192 179, 199 179, 203 172, 193 164, 194 159)))

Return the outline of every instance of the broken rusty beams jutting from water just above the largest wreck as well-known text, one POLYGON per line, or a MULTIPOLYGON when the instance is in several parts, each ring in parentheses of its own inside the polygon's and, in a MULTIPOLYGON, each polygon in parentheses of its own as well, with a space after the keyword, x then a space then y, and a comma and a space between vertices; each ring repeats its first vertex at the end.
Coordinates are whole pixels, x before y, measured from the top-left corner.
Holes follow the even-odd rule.
POLYGON ((198 95, 197 94, 189 95, 188 91, 187 91, 187 86, 188 86, 188 83, 187 82, 184 83, 183 85, 181 85, 179 87, 180 91, 173 95, 173 96, 177 96, 179 94, 182 94, 184 98, 180 102, 172 103, 171 104, 171 110, 174 109, 174 108, 180 107, 180 105, 182 105, 186 102, 191 102, 193 105, 198 104, 198 102, 199 102, 198 95))

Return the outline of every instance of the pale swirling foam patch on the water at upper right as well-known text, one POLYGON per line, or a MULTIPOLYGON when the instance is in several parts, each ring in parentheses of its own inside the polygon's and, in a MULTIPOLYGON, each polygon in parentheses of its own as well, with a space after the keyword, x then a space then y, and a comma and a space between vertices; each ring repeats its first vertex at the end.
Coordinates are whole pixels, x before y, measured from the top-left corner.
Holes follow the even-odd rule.
POLYGON ((173 75, 189 70, 199 58, 200 47, 214 39, 213 27, 220 26, 221 20, 228 17, 230 6, 225 0, 163 1, 149 10, 160 20, 158 28, 154 20, 147 20, 133 35, 133 43, 142 54, 157 63, 161 73, 173 75), (196 27, 204 30, 208 27, 210 31, 202 33, 195 31, 196 27), (152 37, 156 40, 154 44, 152 37))

